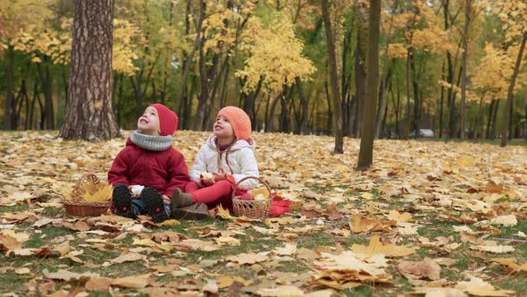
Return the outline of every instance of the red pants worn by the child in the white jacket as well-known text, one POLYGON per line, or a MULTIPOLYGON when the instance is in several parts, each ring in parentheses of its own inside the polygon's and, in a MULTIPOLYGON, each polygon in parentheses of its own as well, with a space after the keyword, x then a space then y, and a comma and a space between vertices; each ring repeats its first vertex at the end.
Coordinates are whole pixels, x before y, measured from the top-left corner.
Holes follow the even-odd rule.
POLYGON ((185 192, 192 194, 194 202, 205 203, 208 208, 222 204, 223 208, 232 209, 232 188, 232 183, 227 181, 215 182, 205 188, 200 188, 196 182, 188 182, 185 192))

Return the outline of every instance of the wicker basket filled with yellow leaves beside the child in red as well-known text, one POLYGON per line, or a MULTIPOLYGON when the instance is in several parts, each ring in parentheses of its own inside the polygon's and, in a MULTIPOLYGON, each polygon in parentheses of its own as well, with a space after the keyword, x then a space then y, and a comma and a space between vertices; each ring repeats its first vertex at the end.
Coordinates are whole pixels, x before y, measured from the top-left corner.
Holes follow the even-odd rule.
POLYGON ((82 199, 82 185, 86 182, 99 183, 98 177, 94 174, 82 176, 73 186, 71 193, 72 199, 62 199, 66 214, 69 216, 101 216, 108 211, 110 201, 90 202, 82 199))

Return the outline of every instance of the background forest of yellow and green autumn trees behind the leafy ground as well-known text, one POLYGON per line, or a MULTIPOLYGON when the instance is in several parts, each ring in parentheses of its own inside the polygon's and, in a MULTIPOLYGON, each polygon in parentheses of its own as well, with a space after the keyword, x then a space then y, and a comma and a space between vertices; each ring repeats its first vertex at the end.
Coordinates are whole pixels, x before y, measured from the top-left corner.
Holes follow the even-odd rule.
MULTIPOLYGON (((329 3, 345 136, 360 137, 363 118, 375 116, 379 138, 428 128, 439 138, 494 139, 506 125, 509 139, 527 140, 526 1, 381 5, 379 100, 376 115, 367 115, 369 2, 329 3)), ((5 130, 62 125, 72 13, 68 0, 0 4, 5 130)), ((256 131, 330 134, 336 101, 322 14, 312 0, 115 1, 118 126, 134 129, 144 108, 161 102, 183 130, 210 129, 217 110, 234 105, 256 131)))

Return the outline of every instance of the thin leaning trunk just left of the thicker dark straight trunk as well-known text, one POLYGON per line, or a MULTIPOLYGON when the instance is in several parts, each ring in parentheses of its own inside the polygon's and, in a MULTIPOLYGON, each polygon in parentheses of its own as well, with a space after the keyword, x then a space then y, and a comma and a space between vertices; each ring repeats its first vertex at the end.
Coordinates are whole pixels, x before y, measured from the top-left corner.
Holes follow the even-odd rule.
POLYGON ((322 4, 322 19, 324 27, 326 28, 326 42, 328 47, 328 58, 330 64, 330 91, 333 97, 334 121, 333 130, 335 131, 335 149, 336 154, 342 154, 344 151, 344 135, 342 132, 342 109, 340 108, 340 94, 339 94, 339 76, 337 74, 337 57, 335 55, 335 37, 333 36, 333 28, 330 21, 330 9, 328 7, 328 0, 321 0, 322 4))

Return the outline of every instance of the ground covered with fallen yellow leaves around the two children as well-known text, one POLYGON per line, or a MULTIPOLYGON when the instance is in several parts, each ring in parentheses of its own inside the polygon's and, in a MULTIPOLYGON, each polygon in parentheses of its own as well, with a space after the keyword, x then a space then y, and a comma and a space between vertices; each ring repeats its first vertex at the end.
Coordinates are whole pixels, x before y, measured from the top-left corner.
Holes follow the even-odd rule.
MULTIPOLYGON (((125 133, 128 134, 128 133, 125 133)), ((79 219, 60 199, 106 181, 124 139, 0 133, 0 291, 5 295, 330 296, 527 292, 527 147, 255 134, 261 175, 286 216, 157 226, 79 219)), ((207 132, 178 132, 192 164, 207 132)))

